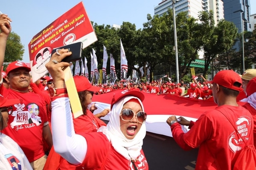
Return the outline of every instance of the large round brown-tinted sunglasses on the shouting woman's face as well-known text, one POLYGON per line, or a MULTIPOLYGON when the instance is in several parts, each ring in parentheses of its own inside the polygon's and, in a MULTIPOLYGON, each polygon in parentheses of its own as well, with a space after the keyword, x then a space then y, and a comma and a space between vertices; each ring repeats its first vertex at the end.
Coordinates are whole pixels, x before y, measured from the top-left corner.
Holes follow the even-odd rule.
MULTIPOLYGON (((123 109, 120 113, 120 117, 124 121, 131 121, 134 118, 135 114, 134 111, 131 109, 123 109)), ((136 119, 140 123, 144 123, 147 118, 147 113, 143 111, 139 111, 136 114, 136 119)))

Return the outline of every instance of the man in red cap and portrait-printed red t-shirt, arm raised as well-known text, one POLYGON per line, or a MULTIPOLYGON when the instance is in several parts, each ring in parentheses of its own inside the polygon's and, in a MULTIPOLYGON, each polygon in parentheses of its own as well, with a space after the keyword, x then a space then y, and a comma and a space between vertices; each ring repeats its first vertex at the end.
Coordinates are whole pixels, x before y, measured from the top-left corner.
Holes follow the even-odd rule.
MULTIPOLYGON (((0 67, 2 67, 6 41, 11 32, 11 26, 8 24, 1 25, 0 29, 0 67)), ((10 63, 6 68, 6 81, 10 83, 10 88, 5 88, 2 85, 2 75, 0 77, 0 94, 7 99, 23 99, 22 102, 12 105, 13 113, 9 115, 8 126, 3 130, 3 133, 19 144, 34 169, 42 170, 46 161, 43 138, 51 147, 52 135, 44 109, 44 102, 38 94, 28 91, 29 71, 30 68, 24 62, 15 61, 10 63), (31 114, 27 106, 31 103, 38 105, 38 116, 41 117, 41 123, 38 125, 29 123, 31 114)))

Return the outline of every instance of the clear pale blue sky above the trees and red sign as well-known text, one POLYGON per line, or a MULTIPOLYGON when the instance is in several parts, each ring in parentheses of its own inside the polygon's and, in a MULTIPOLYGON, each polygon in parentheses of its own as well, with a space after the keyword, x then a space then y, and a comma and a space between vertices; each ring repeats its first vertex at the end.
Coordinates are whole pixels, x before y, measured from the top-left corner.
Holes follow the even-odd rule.
MULTIPOLYGON (((85 0, 88 17, 98 25, 134 23, 137 29, 147 22, 147 14, 154 15, 154 6, 162 0, 85 0)), ((0 11, 12 19, 12 31, 21 38, 29 62, 28 43, 43 28, 64 14, 81 0, 2 0, 0 11)), ((256 13, 256 0, 250 0, 251 14, 256 13)))

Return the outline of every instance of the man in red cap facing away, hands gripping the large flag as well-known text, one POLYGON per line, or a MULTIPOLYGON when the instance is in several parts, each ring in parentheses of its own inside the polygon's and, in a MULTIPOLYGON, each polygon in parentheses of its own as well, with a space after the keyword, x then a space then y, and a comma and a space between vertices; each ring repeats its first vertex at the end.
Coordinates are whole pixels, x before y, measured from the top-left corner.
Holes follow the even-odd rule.
MULTIPOLYGON (((183 117, 179 117, 178 122, 176 116, 167 119, 180 147, 184 150, 199 147, 195 170, 231 170, 246 147, 244 142, 248 146, 253 144, 253 118, 236 102, 237 95, 243 90, 241 85, 236 72, 219 71, 212 80, 212 94, 218 107, 203 113, 196 122, 183 117), (184 133, 180 124, 189 125, 190 130, 184 133)), ((255 169, 249 164, 247 168, 255 169)))

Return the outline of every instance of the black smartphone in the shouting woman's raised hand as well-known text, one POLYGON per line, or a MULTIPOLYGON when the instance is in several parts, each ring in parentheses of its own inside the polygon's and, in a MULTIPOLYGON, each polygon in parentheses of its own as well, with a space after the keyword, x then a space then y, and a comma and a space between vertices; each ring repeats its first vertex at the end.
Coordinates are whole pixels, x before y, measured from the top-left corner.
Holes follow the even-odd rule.
POLYGON ((62 47, 58 47, 52 50, 52 54, 58 51, 59 49, 68 49, 72 52, 72 54, 64 59, 62 61, 64 62, 72 62, 76 61, 82 58, 82 50, 83 50, 83 43, 82 42, 76 42, 69 45, 64 45, 62 47))

